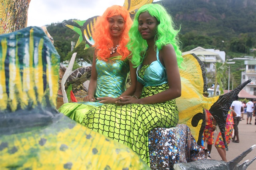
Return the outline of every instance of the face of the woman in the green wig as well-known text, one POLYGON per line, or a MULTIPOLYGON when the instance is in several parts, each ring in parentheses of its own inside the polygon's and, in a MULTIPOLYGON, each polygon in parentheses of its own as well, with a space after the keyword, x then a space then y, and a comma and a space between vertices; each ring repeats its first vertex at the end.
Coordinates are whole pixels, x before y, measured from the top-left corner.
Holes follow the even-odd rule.
POLYGON ((143 12, 139 16, 138 31, 143 39, 154 39, 156 36, 158 21, 148 12, 143 12))

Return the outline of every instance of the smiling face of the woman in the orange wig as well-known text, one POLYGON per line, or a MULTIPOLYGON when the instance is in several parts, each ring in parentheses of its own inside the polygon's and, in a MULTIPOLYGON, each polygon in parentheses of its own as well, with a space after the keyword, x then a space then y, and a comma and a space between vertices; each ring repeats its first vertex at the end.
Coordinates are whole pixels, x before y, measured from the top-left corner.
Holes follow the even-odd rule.
POLYGON ((110 35, 112 37, 119 37, 124 31, 124 23, 124 18, 121 15, 108 18, 110 35))

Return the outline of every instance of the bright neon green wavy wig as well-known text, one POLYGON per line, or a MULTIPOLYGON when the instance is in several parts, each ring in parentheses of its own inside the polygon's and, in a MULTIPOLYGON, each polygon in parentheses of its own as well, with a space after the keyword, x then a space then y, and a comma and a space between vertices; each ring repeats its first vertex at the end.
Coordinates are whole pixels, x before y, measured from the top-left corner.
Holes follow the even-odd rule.
POLYGON ((146 40, 142 39, 138 31, 138 18, 141 13, 148 12, 151 16, 158 20, 159 24, 157 26, 157 33, 155 37, 156 47, 158 50, 162 49, 164 45, 172 44, 175 49, 176 57, 178 61, 178 66, 182 68, 181 64, 183 58, 180 51, 180 41, 177 34, 180 30, 174 29, 174 22, 172 17, 166 9, 159 4, 146 4, 142 6, 134 17, 132 27, 129 31, 130 41, 127 44, 128 49, 131 51, 132 64, 137 67, 142 63, 143 56, 146 53, 148 47, 146 40))

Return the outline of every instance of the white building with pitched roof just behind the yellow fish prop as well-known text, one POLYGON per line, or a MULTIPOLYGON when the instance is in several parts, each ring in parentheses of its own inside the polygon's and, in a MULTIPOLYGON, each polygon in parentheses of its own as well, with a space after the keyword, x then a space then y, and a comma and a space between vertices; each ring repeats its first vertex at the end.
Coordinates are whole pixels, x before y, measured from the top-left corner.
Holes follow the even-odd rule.
POLYGON ((185 51, 182 55, 194 53, 204 63, 207 72, 214 71, 214 63, 224 63, 226 59, 225 51, 218 49, 204 49, 202 47, 196 47, 190 51, 185 51))

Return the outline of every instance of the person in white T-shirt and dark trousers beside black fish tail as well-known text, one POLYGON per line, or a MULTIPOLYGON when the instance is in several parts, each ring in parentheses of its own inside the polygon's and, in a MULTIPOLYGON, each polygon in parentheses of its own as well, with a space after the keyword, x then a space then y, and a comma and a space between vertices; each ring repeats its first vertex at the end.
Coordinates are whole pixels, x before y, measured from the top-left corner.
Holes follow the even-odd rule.
POLYGON ((231 107, 236 112, 236 116, 234 118, 234 137, 232 138, 232 142, 239 143, 239 136, 238 136, 238 124, 240 121, 241 111, 244 111, 242 106, 242 102, 238 101, 238 96, 235 98, 236 100, 232 102, 231 107))

